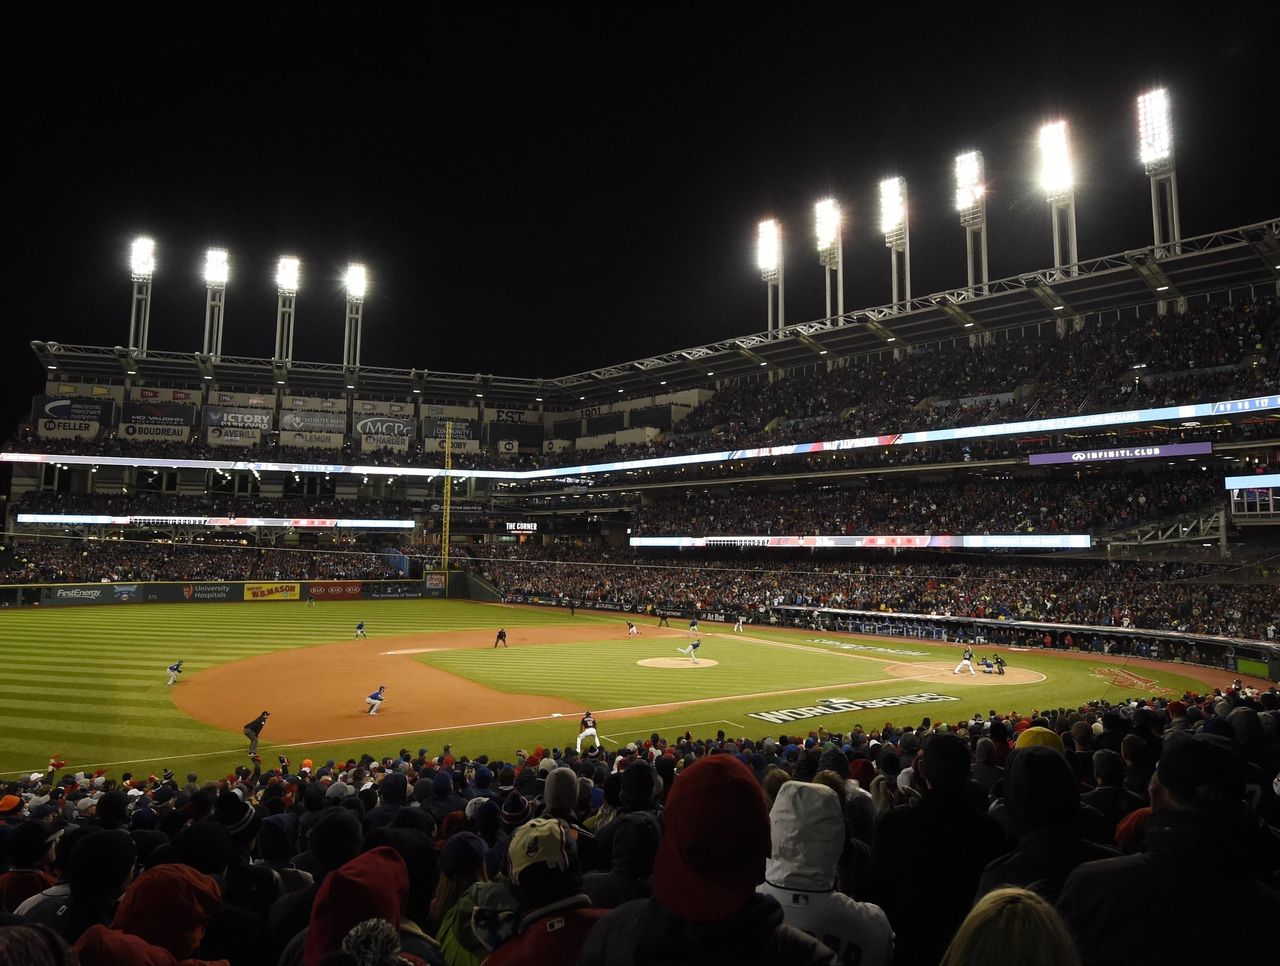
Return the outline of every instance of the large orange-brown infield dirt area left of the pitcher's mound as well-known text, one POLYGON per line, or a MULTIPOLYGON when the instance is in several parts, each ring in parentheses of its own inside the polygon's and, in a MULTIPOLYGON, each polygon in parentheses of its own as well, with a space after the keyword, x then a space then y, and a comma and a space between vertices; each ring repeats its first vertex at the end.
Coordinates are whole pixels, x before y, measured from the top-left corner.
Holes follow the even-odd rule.
MULTIPOLYGON (((600 640, 598 627, 521 627, 507 633, 512 647, 600 640)), ((192 718, 234 734, 268 710, 271 718, 262 741, 269 745, 582 713, 562 699, 498 691, 412 656, 472 647, 502 660, 503 649, 493 647, 493 631, 434 631, 261 654, 193 674, 173 688, 173 700, 192 718), (387 700, 376 715, 365 714, 365 697, 379 685, 387 685, 387 700)))

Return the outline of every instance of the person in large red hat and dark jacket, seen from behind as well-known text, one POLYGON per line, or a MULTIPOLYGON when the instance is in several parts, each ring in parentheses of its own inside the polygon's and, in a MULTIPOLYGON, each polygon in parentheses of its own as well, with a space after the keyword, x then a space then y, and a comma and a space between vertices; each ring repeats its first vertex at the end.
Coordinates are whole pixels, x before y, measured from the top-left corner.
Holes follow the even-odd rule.
POLYGON ((663 827, 653 896, 605 915, 579 962, 836 965, 831 949, 786 925, 776 898, 756 892, 771 853, 769 812, 746 765, 710 755, 682 770, 667 796, 663 827))

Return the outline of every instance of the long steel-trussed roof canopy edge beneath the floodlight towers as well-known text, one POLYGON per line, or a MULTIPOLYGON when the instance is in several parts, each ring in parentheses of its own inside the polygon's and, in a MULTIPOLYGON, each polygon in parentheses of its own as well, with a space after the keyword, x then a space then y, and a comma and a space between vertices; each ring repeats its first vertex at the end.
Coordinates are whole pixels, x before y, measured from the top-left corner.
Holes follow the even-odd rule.
POLYGON ((970 289, 938 292, 909 302, 861 308, 835 319, 785 326, 773 338, 756 333, 678 349, 616 366, 556 379, 522 379, 429 370, 358 370, 321 362, 148 351, 122 347, 60 345, 33 342, 46 368, 64 379, 195 386, 268 389, 285 385, 294 394, 343 394, 424 399, 471 399, 484 393, 490 404, 577 406, 708 386, 758 374, 763 366, 792 368, 886 348, 910 347, 956 337, 1042 322, 1060 316, 1140 312, 1158 301, 1193 299, 1248 287, 1280 284, 1280 219, 1188 238, 1161 247, 1082 261, 1070 269, 1000 279, 987 294, 970 289), (621 390, 621 393, 620 393, 621 390))

